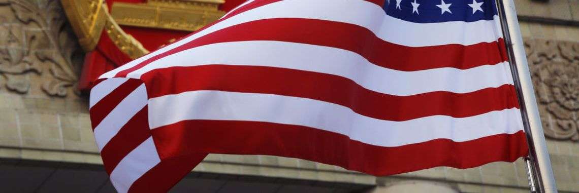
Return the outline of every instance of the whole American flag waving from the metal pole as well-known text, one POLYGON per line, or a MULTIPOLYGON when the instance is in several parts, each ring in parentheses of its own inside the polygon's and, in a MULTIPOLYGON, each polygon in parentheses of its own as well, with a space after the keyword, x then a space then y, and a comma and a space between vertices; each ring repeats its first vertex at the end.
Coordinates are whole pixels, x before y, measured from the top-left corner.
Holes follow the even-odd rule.
POLYGON ((254 0, 105 73, 90 114, 119 192, 207 153, 371 175, 527 155, 494 0, 254 0))

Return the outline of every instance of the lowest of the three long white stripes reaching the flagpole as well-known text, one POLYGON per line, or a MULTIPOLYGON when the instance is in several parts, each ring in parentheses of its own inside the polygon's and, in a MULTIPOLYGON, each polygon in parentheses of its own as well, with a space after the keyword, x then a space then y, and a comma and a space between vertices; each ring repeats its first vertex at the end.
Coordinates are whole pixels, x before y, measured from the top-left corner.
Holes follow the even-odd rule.
POLYGON ((515 133, 523 128, 519 109, 466 118, 430 116, 409 121, 384 121, 313 99, 224 91, 191 91, 160 96, 149 99, 149 110, 155 112, 149 114, 151 128, 182 120, 262 121, 323 129, 362 143, 386 147, 433 139, 464 142, 500 133, 515 133))

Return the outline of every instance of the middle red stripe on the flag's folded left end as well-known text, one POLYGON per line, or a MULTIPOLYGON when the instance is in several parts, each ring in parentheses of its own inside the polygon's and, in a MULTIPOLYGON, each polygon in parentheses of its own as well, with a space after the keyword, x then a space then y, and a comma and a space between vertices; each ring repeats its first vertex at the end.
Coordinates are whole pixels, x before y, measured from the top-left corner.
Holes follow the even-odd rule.
POLYGON ((145 106, 102 148, 102 162, 109 175, 127 154, 151 136, 148 116, 145 106))

